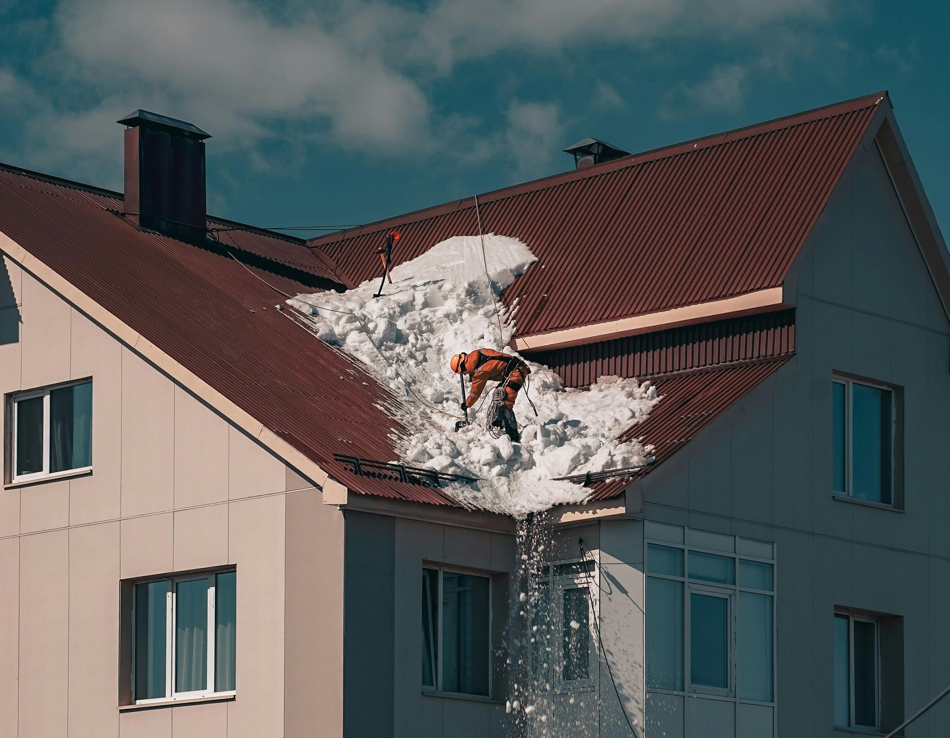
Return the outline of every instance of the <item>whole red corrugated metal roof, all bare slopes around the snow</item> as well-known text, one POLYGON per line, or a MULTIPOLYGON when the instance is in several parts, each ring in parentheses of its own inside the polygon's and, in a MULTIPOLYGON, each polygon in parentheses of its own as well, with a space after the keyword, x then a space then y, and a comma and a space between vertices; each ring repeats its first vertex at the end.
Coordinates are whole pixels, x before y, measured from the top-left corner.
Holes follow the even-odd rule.
MULTIPOLYGON (((485 232, 519 237, 540 257, 505 293, 521 300, 520 331, 780 284, 880 99, 480 197, 485 232)), ((381 407, 398 401, 351 357, 302 340, 304 329, 276 311, 283 298, 274 290, 343 290, 378 277, 372 252, 394 226, 403 234, 397 262, 447 237, 477 234, 471 200, 312 242, 319 248, 216 218, 208 243, 195 246, 140 231, 122 212, 118 193, 0 165, 0 231, 105 310, 352 491, 457 504, 441 490, 357 475, 334 459, 396 459, 393 438, 405 429, 381 407)), ((787 359, 756 355, 657 380, 664 399, 628 431, 656 446, 656 464, 643 473, 787 359)), ((629 483, 597 483, 594 499, 629 483)))

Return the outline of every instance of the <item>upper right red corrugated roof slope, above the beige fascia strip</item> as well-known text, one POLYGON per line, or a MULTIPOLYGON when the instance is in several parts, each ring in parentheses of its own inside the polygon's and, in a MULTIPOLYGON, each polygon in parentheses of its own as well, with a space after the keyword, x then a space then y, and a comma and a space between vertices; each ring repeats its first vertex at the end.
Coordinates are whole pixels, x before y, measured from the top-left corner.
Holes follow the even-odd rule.
MULTIPOLYGON (((529 335, 782 284, 886 93, 479 196, 485 233, 539 257, 504 294, 529 335)), ((397 262, 479 232, 464 199, 319 237, 354 283, 399 227, 397 262)))

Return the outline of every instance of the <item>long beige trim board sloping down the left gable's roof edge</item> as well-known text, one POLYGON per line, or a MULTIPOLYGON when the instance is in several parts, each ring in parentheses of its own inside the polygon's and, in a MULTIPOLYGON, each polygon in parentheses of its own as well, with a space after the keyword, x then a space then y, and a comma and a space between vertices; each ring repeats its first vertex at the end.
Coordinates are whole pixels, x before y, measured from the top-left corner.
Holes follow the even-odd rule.
POLYGON ((274 431, 265 427, 247 411, 238 407, 234 402, 218 392, 217 389, 211 387, 211 385, 201 379, 193 371, 181 365, 178 361, 145 338, 141 333, 135 331, 114 314, 105 310, 102 305, 82 292, 72 284, 72 282, 68 281, 66 277, 57 273, 35 255, 30 254, 27 249, 2 231, 0 231, 0 253, 10 256, 13 261, 45 284, 50 290, 59 294, 66 302, 75 306, 77 310, 85 313, 86 316, 104 328, 105 331, 115 335, 130 350, 138 353, 143 359, 150 362, 153 366, 180 384, 181 387, 189 390, 195 396, 199 397, 200 400, 217 410, 229 422, 256 439, 257 443, 263 445, 286 464, 292 466, 297 473, 318 486, 325 497, 337 501, 346 501, 347 488, 343 484, 331 479, 330 475, 320 468, 319 464, 316 464, 294 446, 288 444, 274 431))

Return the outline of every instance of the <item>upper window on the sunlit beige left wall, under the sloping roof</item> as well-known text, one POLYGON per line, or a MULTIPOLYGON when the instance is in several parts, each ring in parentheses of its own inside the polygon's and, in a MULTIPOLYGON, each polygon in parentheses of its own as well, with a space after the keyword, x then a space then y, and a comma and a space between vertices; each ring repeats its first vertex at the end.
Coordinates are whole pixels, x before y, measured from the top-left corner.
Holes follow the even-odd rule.
POLYGON ((10 410, 11 482, 91 468, 91 380, 19 392, 10 410))

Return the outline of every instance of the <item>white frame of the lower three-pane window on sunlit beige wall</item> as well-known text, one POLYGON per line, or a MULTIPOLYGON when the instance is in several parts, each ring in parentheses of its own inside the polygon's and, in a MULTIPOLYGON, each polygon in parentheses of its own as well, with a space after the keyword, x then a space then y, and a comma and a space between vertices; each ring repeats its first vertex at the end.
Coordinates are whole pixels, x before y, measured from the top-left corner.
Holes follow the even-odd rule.
POLYGON ((174 700, 192 700, 200 697, 227 697, 237 693, 237 682, 234 690, 215 691, 215 649, 218 641, 218 621, 215 617, 215 596, 217 592, 217 577, 219 574, 230 574, 235 569, 220 569, 205 574, 183 575, 180 577, 151 577, 147 579, 137 579, 132 582, 132 692, 135 693, 136 674, 135 674, 135 648, 138 643, 135 633, 136 608, 138 607, 135 587, 138 584, 147 584, 149 582, 165 582, 165 693, 161 697, 150 699, 134 699, 136 705, 149 705, 158 702, 169 702, 174 700), (178 585, 186 581, 198 581, 206 579, 208 581, 208 627, 207 627, 207 646, 205 658, 207 667, 205 669, 205 689, 193 691, 175 691, 175 617, 176 617, 176 596, 178 585))

